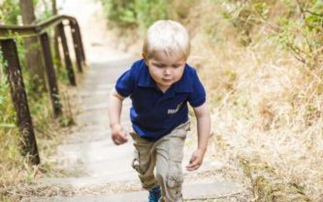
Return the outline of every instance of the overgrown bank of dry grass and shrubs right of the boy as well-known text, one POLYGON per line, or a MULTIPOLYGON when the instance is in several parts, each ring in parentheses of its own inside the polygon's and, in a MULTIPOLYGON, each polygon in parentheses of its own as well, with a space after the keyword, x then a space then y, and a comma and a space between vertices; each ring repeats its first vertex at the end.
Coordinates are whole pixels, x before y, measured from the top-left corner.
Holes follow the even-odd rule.
MULTIPOLYGON (((120 2, 107 4, 122 11, 110 20, 131 13, 139 33, 146 28, 141 19, 159 19, 138 7, 146 1, 132 1, 131 8, 120 2)), ((147 7, 164 1, 156 2, 147 7)), ((244 171, 256 201, 322 201, 323 2, 165 5, 160 18, 181 21, 192 36, 190 62, 212 106, 214 158, 244 171), (181 8, 189 9, 178 15, 181 8)))

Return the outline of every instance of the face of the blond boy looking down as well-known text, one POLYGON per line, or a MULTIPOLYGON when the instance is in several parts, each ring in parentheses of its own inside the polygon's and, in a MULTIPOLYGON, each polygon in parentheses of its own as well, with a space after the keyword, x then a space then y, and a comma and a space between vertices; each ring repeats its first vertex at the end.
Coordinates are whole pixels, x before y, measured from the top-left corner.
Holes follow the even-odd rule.
POLYGON ((186 60, 176 54, 167 56, 156 53, 146 60, 150 76, 162 91, 166 91, 173 83, 179 81, 183 75, 186 60))

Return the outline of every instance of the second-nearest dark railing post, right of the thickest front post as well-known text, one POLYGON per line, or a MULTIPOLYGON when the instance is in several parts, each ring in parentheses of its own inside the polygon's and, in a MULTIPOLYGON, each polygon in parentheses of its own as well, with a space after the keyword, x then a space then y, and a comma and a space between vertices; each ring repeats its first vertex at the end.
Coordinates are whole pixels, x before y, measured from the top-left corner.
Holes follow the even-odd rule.
POLYGON ((62 105, 60 102, 59 89, 57 86, 57 79, 50 53, 50 43, 47 32, 44 32, 40 35, 40 41, 45 61, 51 104, 54 116, 55 118, 57 118, 59 115, 62 114, 62 105))

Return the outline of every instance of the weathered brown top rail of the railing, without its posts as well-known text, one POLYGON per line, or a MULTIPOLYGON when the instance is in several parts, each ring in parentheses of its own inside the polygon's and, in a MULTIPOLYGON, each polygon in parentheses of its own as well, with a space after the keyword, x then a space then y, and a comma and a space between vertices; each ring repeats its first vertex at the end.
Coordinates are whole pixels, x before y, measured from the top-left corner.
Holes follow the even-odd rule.
POLYGON ((22 37, 40 35, 46 29, 57 26, 63 20, 73 21, 77 24, 77 20, 72 16, 56 15, 35 25, 0 25, 0 39, 12 38, 10 32, 18 33, 22 37))

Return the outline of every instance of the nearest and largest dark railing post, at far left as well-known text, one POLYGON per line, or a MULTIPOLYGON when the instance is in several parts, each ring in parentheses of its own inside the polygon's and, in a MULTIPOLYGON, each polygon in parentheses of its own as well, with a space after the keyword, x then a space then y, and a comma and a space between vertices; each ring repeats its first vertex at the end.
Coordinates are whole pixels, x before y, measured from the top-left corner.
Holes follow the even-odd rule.
POLYGON ((34 128, 30 117, 25 85, 18 59, 17 47, 14 39, 1 40, 4 59, 8 61, 7 74, 11 96, 16 110, 17 125, 22 134, 22 155, 28 162, 40 163, 34 128))

